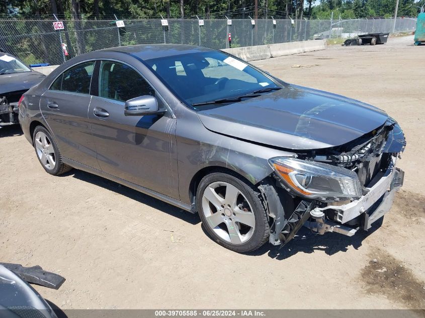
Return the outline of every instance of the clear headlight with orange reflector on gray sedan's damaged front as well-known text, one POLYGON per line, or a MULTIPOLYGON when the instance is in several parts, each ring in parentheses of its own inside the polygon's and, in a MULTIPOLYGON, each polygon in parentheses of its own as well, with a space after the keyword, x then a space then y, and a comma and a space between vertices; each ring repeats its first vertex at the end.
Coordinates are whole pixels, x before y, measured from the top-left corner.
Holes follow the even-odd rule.
POLYGON ((362 196, 360 181, 354 171, 287 157, 272 158, 269 162, 286 185, 302 196, 362 196))

